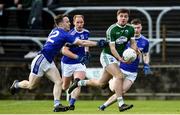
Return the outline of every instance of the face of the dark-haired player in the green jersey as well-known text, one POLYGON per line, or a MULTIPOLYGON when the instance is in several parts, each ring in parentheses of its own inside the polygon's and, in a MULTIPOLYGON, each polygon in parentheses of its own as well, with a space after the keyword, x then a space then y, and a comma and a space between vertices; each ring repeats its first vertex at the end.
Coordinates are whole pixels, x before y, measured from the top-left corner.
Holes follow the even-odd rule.
POLYGON ((120 13, 118 16, 117 16, 117 23, 121 26, 124 26, 127 24, 129 20, 129 15, 128 13, 120 13))

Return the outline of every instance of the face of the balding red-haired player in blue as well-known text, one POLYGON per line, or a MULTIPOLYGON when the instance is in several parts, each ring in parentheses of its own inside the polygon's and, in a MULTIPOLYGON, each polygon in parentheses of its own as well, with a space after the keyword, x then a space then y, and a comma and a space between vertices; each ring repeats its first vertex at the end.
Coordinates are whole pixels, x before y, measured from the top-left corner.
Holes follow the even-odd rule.
POLYGON ((82 17, 76 17, 74 20, 74 26, 77 29, 77 31, 82 31, 84 27, 84 20, 82 17))

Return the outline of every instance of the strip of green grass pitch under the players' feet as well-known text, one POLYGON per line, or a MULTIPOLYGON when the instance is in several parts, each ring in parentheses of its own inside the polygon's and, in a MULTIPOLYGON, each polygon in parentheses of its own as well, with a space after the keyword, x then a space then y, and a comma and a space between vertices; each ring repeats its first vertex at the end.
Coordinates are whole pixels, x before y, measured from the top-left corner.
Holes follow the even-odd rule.
MULTIPOLYGON (((180 100, 129 100, 134 108, 123 114, 180 114, 180 100)), ((68 103, 62 101, 64 105, 68 103)), ((97 107, 103 101, 77 101, 75 111, 61 113, 52 112, 53 101, 34 100, 1 100, 0 114, 119 114, 117 104, 113 104, 105 111, 98 111, 97 107)))

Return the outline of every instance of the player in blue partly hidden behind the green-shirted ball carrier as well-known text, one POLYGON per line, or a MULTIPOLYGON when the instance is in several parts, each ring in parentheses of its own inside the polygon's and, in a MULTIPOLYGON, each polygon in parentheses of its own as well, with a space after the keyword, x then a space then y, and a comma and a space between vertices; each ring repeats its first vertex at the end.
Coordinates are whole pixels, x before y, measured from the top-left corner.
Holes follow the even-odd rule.
MULTIPOLYGON (((142 31, 142 23, 140 19, 133 19, 131 24, 135 28, 135 40, 137 42, 137 46, 139 50, 142 52, 143 61, 144 61, 144 73, 145 75, 151 74, 150 66, 149 66, 149 41, 146 37, 141 34, 142 31)), ((130 44, 127 44, 127 48, 130 47, 130 44)), ((123 81, 123 93, 126 93, 129 88, 134 83, 137 77, 139 65, 139 57, 136 58, 130 64, 126 64, 121 62, 120 69, 124 74, 124 81, 123 81)), ((109 87, 112 91, 114 91, 114 79, 111 79, 109 82, 109 87)), ((104 109, 116 101, 117 97, 113 94, 103 105, 99 106, 99 109, 104 111, 104 109)))

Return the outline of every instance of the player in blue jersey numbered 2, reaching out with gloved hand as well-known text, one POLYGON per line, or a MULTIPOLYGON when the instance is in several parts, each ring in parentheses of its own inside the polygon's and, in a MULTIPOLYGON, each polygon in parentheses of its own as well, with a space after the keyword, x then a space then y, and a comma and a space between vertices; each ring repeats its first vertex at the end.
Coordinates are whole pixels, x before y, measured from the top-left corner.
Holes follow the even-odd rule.
MULTIPOLYGON (((54 22, 56 27, 51 31, 42 50, 31 63, 29 80, 15 80, 10 87, 10 92, 14 95, 15 93, 17 93, 19 88, 30 90, 34 89, 38 85, 41 77, 43 75, 47 75, 47 78, 54 83, 54 112, 59 112, 66 111, 67 107, 62 106, 62 104, 60 103, 62 79, 53 61, 54 57, 60 52, 65 43, 73 43, 82 46, 103 47, 104 45, 106 45, 106 42, 103 40, 100 40, 98 42, 80 40, 70 35, 68 31, 70 30, 71 23, 66 15, 56 16, 54 22)), ((78 59, 81 59, 81 57, 78 57, 78 59)))

